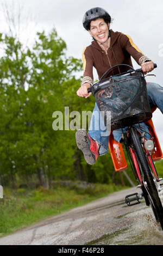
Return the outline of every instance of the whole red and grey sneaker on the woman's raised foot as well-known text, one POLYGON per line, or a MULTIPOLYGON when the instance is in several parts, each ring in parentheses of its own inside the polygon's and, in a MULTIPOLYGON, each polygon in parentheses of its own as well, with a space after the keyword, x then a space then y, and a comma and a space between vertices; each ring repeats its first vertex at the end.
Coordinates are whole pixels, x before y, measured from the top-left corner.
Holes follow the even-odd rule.
POLYGON ((83 151, 85 161, 89 164, 96 163, 99 147, 84 129, 76 132, 76 143, 78 148, 83 151))

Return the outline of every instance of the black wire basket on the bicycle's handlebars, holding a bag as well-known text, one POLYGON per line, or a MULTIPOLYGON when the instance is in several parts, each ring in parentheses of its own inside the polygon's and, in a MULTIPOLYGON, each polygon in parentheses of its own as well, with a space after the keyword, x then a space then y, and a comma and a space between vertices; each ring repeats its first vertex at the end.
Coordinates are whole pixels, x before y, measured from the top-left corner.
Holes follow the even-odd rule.
POLYGON ((102 77, 91 87, 108 131, 152 118, 145 77, 141 71, 128 68, 127 72, 104 80, 102 77))

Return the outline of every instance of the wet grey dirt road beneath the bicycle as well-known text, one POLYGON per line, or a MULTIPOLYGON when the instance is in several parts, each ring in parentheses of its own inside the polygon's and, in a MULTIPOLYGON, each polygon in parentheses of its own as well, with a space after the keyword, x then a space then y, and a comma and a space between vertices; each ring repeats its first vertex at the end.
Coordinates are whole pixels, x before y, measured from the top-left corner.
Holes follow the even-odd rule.
MULTIPOLYGON (((127 206, 130 188, 2 237, 0 245, 163 245, 163 232, 145 203, 127 206)), ((162 200, 162 199, 161 199, 162 200)))

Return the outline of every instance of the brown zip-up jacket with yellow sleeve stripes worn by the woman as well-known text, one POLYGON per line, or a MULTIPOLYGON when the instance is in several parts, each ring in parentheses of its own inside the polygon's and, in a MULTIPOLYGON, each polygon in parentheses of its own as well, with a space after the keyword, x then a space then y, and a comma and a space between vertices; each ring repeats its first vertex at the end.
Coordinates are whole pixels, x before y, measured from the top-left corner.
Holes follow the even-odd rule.
MULTIPOLYGON (((95 40, 92 41, 90 46, 87 46, 84 49, 82 55, 84 77, 90 77, 93 82, 93 66, 97 70, 99 79, 111 66, 115 66, 117 64, 127 64, 133 66, 131 56, 139 65, 148 59, 139 50, 139 48, 137 48, 129 35, 111 30, 110 48, 107 52, 103 51, 95 40)), ((124 68, 123 66, 120 66, 120 68, 116 68, 109 72, 104 78, 127 70, 128 69, 124 68)))

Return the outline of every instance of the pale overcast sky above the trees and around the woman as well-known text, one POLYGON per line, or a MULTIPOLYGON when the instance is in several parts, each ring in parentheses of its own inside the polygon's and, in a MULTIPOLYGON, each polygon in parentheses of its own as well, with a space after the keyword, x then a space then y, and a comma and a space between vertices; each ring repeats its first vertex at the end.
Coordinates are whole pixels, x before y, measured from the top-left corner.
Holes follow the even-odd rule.
MULTIPOLYGON (((82 24, 85 11, 93 7, 104 8, 114 19, 111 29, 130 35, 140 50, 158 65, 153 72, 156 77, 147 77, 147 81, 163 86, 162 0, 0 0, 0 3, 0 32, 7 33, 8 29, 2 3, 7 3, 15 16, 17 3, 20 3, 22 40, 28 39, 31 44, 36 31, 44 29, 48 33, 55 27, 67 44, 67 56, 76 58, 82 57, 83 49, 92 41, 82 24)), ((134 60, 133 64, 139 67, 134 60)), ((163 118, 159 110, 154 113, 153 121, 163 150, 163 118)))

